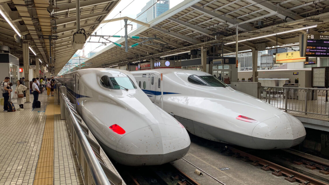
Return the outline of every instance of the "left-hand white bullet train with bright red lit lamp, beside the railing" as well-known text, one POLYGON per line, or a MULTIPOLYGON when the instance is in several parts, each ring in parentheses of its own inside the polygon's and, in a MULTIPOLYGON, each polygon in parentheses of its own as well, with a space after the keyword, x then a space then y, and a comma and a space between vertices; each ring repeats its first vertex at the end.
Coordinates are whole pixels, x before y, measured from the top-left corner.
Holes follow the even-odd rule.
POLYGON ((184 126, 155 106, 130 72, 83 69, 58 81, 104 151, 118 163, 160 165, 189 151, 184 126))

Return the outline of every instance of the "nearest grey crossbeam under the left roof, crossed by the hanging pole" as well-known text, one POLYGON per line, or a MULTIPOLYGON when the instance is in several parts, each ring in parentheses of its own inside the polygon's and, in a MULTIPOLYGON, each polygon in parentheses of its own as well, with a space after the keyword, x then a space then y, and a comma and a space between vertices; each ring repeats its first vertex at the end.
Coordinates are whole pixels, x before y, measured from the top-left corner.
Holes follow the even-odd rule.
MULTIPOLYGON (((89 6, 95 6, 99 4, 104 4, 104 3, 110 3, 113 1, 118 1, 118 0, 88 0, 88 1, 80 1, 80 8, 85 8, 89 6)), ((66 11, 71 11, 75 10, 75 2, 74 3, 65 3, 65 4, 58 4, 56 5, 57 9, 54 10, 54 13, 62 13, 66 11)))

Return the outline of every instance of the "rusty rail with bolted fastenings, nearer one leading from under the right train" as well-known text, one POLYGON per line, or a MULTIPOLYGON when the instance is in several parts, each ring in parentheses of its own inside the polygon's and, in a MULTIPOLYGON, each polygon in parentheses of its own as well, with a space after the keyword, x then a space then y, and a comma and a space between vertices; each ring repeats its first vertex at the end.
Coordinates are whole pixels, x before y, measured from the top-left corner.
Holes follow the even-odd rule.
POLYGON ((321 182, 317 179, 314 179, 312 177, 309 177, 307 175, 298 173, 296 171, 293 171, 291 169, 285 168, 283 166, 280 166, 278 164, 275 164, 273 162, 267 161, 265 159, 262 159, 260 157, 256 157, 252 154, 248 154, 246 152, 240 151, 238 149, 235 149, 233 147, 228 146, 228 149, 231 150, 233 153, 237 153, 242 157, 247 157, 249 160, 253 161, 254 164, 262 165, 263 170, 273 170, 272 174, 276 174, 277 176, 286 175, 285 178, 288 181, 293 182, 294 180, 297 180, 301 182, 300 185, 328 185, 324 182, 321 182))

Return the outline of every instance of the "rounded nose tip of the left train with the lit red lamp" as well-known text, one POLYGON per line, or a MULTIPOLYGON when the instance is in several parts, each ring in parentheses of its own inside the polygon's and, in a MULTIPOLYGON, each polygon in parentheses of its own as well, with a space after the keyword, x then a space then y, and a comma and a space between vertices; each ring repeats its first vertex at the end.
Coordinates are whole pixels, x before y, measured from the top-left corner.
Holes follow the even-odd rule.
POLYGON ((189 149, 190 137, 186 130, 165 124, 150 125, 126 134, 116 147, 120 163, 135 166, 171 162, 184 157, 189 149))

